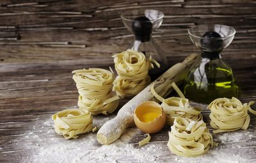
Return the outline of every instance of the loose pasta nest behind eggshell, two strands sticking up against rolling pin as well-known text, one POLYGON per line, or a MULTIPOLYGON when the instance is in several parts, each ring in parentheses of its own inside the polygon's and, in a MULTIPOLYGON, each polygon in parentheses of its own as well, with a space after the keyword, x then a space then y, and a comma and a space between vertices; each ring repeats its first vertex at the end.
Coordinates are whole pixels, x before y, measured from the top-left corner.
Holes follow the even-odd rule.
POLYGON ((161 107, 163 107, 164 113, 166 113, 166 125, 172 125, 175 117, 178 116, 182 118, 189 118, 193 121, 202 120, 203 116, 201 114, 201 110, 189 105, 189 100, 184 97, 174 82, 172 83, 172 87, 182 98, 170 97, 164 99, 160 95, 157 95, 156 91, 154 90, 154 85, 151 87, 151 93, 157 98, 157 100, 162 102, 161 107))

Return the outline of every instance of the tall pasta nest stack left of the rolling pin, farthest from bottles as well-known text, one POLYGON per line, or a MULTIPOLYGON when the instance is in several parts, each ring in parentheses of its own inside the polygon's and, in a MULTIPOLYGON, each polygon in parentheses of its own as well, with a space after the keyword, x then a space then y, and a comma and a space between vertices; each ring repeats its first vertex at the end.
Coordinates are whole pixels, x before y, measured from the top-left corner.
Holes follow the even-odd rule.
POLYGON ((92 115, 110 114, 119 104, 119 97, 112 91, 114 75, 102 68, 74 70, 73 79, 79 93, 80 109, 88 110, 92 115))

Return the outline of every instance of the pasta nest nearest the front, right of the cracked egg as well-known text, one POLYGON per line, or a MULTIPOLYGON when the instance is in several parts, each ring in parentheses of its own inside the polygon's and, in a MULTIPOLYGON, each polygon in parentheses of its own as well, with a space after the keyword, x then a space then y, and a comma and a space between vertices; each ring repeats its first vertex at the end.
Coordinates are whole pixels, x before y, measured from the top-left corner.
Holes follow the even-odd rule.
POLYGON ((171 128, 167 146, 176 155, 198 157, 213 145, 212 135, 203 120, 176 117, 171 128))

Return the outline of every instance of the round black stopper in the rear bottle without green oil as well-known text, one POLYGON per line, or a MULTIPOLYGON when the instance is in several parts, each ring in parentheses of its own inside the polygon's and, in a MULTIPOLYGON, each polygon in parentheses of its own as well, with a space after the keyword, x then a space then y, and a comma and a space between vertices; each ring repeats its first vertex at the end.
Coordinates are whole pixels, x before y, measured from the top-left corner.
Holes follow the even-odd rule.
POLYGON ((152 33, 152 23, 145 16, 137 17, 132 22, 132 31, 136 40, 148 42, 152 33))

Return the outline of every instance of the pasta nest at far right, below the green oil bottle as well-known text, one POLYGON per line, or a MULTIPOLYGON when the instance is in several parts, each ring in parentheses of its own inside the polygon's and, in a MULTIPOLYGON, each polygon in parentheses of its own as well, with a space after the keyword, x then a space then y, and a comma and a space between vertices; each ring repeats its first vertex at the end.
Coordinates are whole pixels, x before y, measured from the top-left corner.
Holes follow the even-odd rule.
POLYGON ((207 109, 211 110, 211 126, 216 129, 213 132, 228 132, 243 129, 246 130, 250 123, 248 111, 256 114, 249 104, 242 104, 237 98, 217 98, 208 105, 207 109))

